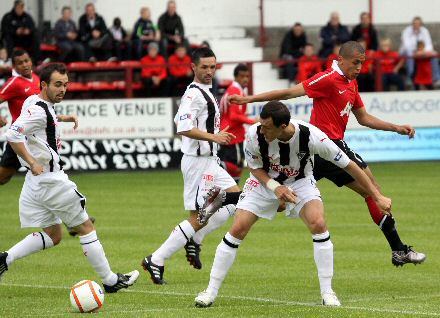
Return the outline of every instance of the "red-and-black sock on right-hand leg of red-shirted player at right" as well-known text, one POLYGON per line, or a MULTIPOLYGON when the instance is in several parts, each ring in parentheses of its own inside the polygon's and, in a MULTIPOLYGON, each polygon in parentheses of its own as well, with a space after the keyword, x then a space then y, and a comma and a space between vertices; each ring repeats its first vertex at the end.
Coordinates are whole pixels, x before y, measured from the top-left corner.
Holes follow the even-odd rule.
POLYGON ((383 215, 372 197, 365 199, 367 202, 368 210, 373 218, 374 223, 379 225, 388 244, 392 251, 401 251, 405 249, 405 245, 402 243, 399 237, 399 233, 395 227, 395 221, 392 215, 383 215))

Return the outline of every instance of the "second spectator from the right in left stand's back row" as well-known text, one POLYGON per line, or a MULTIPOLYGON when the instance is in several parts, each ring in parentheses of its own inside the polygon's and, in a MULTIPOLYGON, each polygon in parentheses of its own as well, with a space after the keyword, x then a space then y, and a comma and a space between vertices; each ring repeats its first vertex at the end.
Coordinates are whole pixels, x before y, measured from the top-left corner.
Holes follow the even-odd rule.
POLYGON ((144 55, 144 46, 160 39, 160 32, 151 21, 151 11, 148 7, 141 8, 141 17, 136 21, 133 27, 131 40, 135 49, 135 57, 140 60, 144 55))

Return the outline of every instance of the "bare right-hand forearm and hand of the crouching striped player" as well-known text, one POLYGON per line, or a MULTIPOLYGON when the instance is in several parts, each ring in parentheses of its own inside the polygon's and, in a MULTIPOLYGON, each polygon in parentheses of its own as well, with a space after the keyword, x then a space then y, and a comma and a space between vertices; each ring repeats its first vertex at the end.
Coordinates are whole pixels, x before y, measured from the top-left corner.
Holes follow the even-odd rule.
POLYGON ((379 190, 377 190, 370 178, 368 178, 365 172, 362 171, 356 163, 350 160, 350 163, 344 168, 344 170, 358 181, 367 193, 371 195, 383 214, 389 215, 391 213, 391 199, 383 196, 379 190))

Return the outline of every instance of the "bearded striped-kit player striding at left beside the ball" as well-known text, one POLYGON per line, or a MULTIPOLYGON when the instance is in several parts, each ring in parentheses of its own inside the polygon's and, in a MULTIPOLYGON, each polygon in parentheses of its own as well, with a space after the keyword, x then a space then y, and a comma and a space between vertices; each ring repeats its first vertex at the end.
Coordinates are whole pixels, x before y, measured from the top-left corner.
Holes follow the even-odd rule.
MULTIPOLYGON (((40 75, 41 93, 25 100, 20 116, 6 132, 6 139, 28 169, 19 199, 21 226, 38 227, 42 231, 29 234, 0 253, 0 277, 15 261, 58 245, 62 238, 61 222, 64 222, 79 234, 84 256, 101 277, 104 290, 115 293, 133 285, 139 272, 119 274, 111 270, 86 212, 86 198, 63 171, 60 131, 53 106, 66 93, 65 65, 49 64, 40 75)), ((76 116, 70 119, 76 126, 76 116)))

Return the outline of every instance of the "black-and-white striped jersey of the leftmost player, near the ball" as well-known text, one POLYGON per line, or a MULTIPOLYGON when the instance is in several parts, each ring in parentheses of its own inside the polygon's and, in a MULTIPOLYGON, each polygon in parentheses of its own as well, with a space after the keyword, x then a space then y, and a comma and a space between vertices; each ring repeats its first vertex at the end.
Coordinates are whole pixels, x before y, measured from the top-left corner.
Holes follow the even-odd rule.
MULTIPOLYGON (((5 135, 10 142, 23 142, 32 157, 43 166, 44 173, 62 169, 60 131, 52 103, 38 95, 29 96, 23 103, 20 116, 5 135)), ((28 167, 21 157, 18 158, 24 167, 28 167)))

